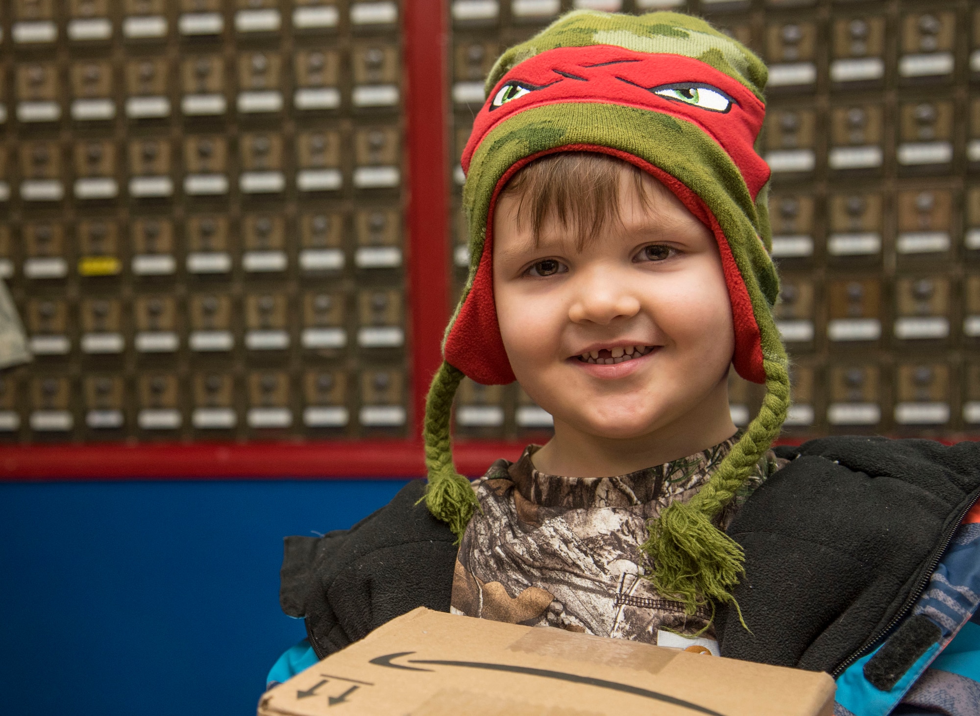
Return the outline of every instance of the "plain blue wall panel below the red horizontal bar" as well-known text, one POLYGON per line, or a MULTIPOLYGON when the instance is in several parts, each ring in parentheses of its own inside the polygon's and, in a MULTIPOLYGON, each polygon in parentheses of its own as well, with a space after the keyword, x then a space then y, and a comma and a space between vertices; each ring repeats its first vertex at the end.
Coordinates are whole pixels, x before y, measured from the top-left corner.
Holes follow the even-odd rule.
POLYGON ((245 716, 305 636, 282 537, 404 481, 0 485, 0 691, 30 716, 245 716))

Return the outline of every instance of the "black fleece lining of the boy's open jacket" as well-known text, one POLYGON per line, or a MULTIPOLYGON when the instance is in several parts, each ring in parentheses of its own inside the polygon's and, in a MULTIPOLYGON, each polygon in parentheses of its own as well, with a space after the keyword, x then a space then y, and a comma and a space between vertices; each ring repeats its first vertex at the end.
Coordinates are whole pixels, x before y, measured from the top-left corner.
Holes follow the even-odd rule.
MULTIPOLYGON (((728 534, 745 549, 730 608, 715 627, 723 656, 834 672, 892 626, 917 596, 980 494, 980 443, 826 437, 777 448, 792 462, 742 507, 728 534)), ((449 528, 417 504, 424 483, 350 530, 286 537, 280 602, 305 617, 320 657, 401 614, 449 611, 449 528)))

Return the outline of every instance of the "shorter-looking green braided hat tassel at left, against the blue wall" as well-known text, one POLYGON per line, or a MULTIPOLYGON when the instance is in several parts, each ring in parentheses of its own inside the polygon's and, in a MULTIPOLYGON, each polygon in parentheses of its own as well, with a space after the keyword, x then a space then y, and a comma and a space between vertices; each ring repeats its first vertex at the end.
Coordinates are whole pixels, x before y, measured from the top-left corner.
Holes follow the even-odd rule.
POLYGON ((479 508, 469 481, 456 472, 453 465, 450 425, 453 398, 462 380, 462 371, 448 363, 442 364, 425 398, 425 425, 422 429, 425 467, 428 469, 428 485, 422 499, 434 517, 449 525, 458 544, 463 539, 473 510, 479 508))

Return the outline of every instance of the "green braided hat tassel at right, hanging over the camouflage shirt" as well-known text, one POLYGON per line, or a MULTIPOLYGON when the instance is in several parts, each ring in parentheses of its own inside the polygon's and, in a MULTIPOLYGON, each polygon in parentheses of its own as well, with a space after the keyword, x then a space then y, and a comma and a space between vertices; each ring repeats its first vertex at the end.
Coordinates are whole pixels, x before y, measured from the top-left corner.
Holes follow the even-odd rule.
MULTIPOLYGON (((693 615, 699 606, 711 604, 713 608, 724 602, 738 609, 731 592, 745 574, 745 553, 711 521, 748 479, 786 419, 789 367, 785 352, 779 352, 782 355, 775 360, 762 362, 766 393, 759 415, 732 445, 711 480, 689 501, 668 505, 648 525, 643 551, 654 567, 649 579, 663 596, 683 602, 688 614, 693 615)), ((744 621, 742 626, 748 629, 744 621)))

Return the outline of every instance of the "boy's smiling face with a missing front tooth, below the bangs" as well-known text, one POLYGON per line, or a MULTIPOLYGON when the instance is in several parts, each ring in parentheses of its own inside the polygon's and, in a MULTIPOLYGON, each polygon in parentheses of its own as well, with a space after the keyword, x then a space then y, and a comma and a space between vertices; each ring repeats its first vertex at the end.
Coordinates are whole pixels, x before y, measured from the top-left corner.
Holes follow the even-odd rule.
POLYGON ((529 222, 516 220, 519 196, 497 202, 493 281, 504 347, 556 433, 564 424, 640 437, 697 419, 724 389, 735 338, 714 237, 659 181, 643 181, 646 203, 623 168, 621 222, 581 249, 573 228, 554 218, 535 245, 529 222))

